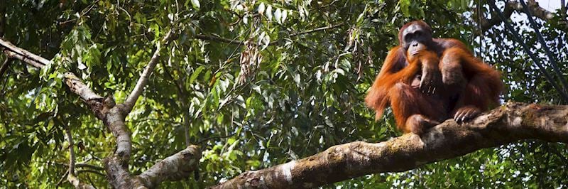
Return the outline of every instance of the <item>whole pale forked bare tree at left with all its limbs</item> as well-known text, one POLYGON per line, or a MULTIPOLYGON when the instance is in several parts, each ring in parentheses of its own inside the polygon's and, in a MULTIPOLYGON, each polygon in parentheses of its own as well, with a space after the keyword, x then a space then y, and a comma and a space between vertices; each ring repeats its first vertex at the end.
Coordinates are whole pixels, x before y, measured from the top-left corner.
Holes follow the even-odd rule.
MULTIPOLYGON (((162 43, 171 41, 172 35, 172 31, 170 31, 162 43)), ((18 48, 1 38, 0 50, 9 58, 21 60, 35 68, 43 68, 43 66, 50 64, 50 60, 18 48)), ((129 95, 124 104, 116 104, 112 97, 105 99, 97 95, 72 72, 65 73, 65 83, 70 87, 70 90, 89 104, 89 107, 91 107, 97 118, 101 119, 104 125, 109 127, 116 139, 116 151, 103 161, 104 168, 107 172, 107 180, 109 180, 109 183, 111 183, 114 188, 146 188, 146 185, 158 185, 158 183, 164 179, 175 180, 187 178, 186 172, 197 168, 195 164, 197 164, 201 156, 201 152, 197 146, 188 146, 180 153, 176 153, 174 155, 175 157, 166 158, 168 161, 162 163, 162 166, 154 166, 151 168, 143 177, 130 175, 128 171, 128 161, 131 155, 132 143, 129 128, 124 124, 124 118, 129 114, 136 99, 141 95, 144 85, 148 82, 148 76, 151 75, 153 68, 155 68, 157 64, 159 51, 160 45, 158 44, 150 63, 148 63, 144 69, 136 87, 134 87, 133 92, 131 92, 131 95, 129 95), (189 154, 192 155, 189 156, 189 154), (186 162, 180 161, 180 159, 186 162), (182 167, 173 168, 172 166, 175 165, 182 167), (164 169, 162 170, 160 168, 164 169), (155 176, 165 176, 165 178, 156 178, 155 176)), ((75 180, 75 178, 68 179, 75 180)))

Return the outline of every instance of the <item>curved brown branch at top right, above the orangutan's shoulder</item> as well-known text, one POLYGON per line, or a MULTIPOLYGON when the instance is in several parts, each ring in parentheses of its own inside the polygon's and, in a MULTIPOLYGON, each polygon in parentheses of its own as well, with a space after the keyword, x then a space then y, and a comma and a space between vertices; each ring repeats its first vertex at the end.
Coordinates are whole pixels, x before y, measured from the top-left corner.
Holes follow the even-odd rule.
MULTIPOLYGON (((532 15, 542 19, 543 21, 550 21, 550 19, 552 19, 555 16, 554 13, 540 7, 538 3, 534 0, 529 0, 527 2, 527 5, 532 15)), ((505 15, 506 18, 510 18, 510 16, 513 14, 513 11, 524 12, 523 5, 521 5, 520 2, 518 1, 507 1, 505 4, 505 10, 503 11, 503 14, 505 15)), ((493 26, 501 22, 503 22, 503 20, 501 20, 501 18, 499 18, 496 15, 496 13, 491 12, 491 19, 485 19, 482 16, 480 23, 481 30, 484 32, 488 31, 489 28, 492 28, 493 26)))

